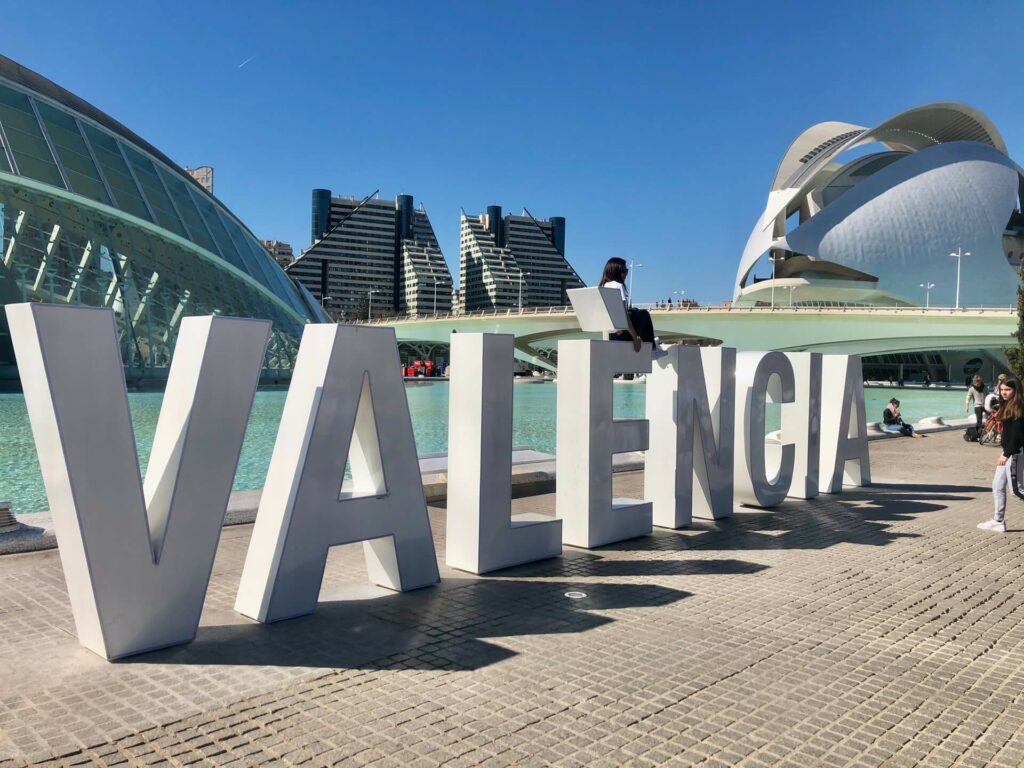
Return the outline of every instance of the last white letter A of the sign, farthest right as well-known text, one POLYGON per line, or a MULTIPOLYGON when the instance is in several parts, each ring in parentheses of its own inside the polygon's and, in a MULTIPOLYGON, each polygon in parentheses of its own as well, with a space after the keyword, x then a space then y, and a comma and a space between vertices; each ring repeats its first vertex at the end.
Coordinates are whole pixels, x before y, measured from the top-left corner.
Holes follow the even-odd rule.
POLYGON ((824 355, 821 391, 819 489, 822 494, 841 494, 844 481, 847 485, 869 484, 871 469, 867 458, 867 418, 860 357, 824 355))

